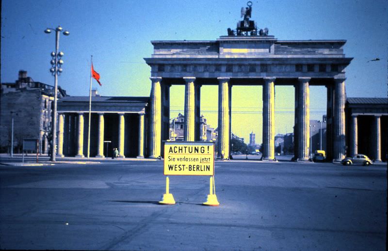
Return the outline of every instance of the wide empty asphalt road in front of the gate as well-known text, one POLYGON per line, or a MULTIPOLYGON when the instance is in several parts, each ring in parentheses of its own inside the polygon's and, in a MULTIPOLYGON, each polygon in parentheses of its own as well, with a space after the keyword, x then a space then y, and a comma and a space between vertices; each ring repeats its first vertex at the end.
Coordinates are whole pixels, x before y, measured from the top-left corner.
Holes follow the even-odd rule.
POLYGON ((0 248, 385 250, 387 167, 216 161, 170 177, 161 161, 0 165, 0 248))

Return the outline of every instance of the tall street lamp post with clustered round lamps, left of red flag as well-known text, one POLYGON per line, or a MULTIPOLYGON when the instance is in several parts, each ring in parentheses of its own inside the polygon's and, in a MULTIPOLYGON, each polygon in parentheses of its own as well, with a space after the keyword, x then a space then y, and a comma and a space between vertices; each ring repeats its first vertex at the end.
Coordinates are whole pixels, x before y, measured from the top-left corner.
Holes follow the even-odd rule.
MULTIPOLYGON (((59 34, 61 31, 63 31, 62 27, 59 25, 57 28, 47 28, 45 30, 45 33, 49 34, 51 31, 55 31, 55 52, 51 52, 52 60, 50 72, 52 75, 54 75, 54 110, 52 113, 52 141, 51 141, 51 161, 55 161, 56 156, 56 145, 57 145, 57 100, 58 100, 58 73, 62 72, 62 68, 59 67, 64 62, 61 59, 64 55, 62 51, 59 52, 59 34)), ((69 31, 63 31, 63 34, 65 36, 68 36, 70 33, 69 31)))

